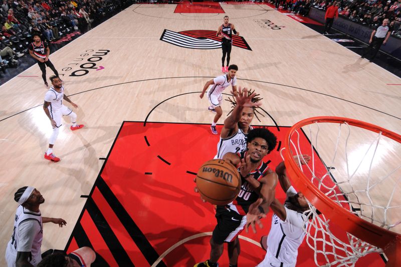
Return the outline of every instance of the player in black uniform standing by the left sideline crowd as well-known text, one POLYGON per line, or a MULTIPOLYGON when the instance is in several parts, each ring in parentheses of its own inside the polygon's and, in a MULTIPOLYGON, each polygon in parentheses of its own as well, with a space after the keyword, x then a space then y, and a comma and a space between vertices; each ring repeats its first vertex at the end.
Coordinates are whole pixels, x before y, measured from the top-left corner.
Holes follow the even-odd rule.
POLYGON ((28 46, 29 54, 37 60, 39 68, 41 68, 42 71, 43 81, 45 82, 46 87, 48 87, 46 81, 46 66, 48 66, 57 77, 59 76, 59 73, 49 60, 50 49, 48 44, 41 40, 41 34, 38 32, 33 33, 32 38, 34 39, 34 42, 28 46))

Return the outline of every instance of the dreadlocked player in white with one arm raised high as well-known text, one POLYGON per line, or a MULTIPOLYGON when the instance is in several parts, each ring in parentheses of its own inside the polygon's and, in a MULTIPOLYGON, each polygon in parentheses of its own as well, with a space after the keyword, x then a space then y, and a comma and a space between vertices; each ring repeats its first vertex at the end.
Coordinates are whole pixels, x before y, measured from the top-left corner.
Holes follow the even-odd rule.
POLYGON ((224 121, 215 159, 223 159, 228 152, 240 153, 247 149, 247 135, 253 129, 250 124, 255 116, 255 109, 262 105, 258 103, 261 100, 258 96, 255 91, 240 87, 234 100, 228 99, 234 109, 224 121))

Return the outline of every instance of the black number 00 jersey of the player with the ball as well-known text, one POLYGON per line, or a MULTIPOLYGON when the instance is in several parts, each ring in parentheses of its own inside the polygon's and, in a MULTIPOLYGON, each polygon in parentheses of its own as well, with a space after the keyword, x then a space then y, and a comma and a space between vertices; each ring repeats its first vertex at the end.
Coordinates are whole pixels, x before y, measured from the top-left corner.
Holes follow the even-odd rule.
MULTIPOLYGON (((244 151, 241 153, 237 153, 241 159, 246 158, 248 151, 244 151)), ((258 181, 266 175, 269 166, 261 160, 260 165, 255 170, 251 171, 250 173, 253 174, 254 178, 258 181)), ((240 171, 240 168, 238 168, 240 171)), ((228 204, 229 208, 236 211, 240 215, 246 215, 249 209, 249 206, 258 200, 259 195, 254 191, 252 185, 250 185, 247 180, 241 177, 241 190, 238 194, 237 198, 228 204)))

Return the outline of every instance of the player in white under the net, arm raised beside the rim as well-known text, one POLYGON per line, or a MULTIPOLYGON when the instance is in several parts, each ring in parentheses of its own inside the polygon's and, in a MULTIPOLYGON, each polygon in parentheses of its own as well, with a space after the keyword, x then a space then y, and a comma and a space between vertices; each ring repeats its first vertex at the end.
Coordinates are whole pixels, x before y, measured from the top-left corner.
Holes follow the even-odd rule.
MULTIPOLYGON (((301 162, 301 164, 307 164, 310 159, 309 155, 302 155, 299 160, 298 156, 294 157, 295 162, 301 162)), ((269 235, 261 238, 261 245, 267 250, 266 256, 257 267, 295 267, 298 247, 305 237, 303 227, 308 227, 309 218, 303 212, 309 209, 309 205, 305 196, 301 192, 297 192, 291 185, 284 162, 276 167, 276 173, 287 198, 284 205, 277 199, 270 204, 270 208, 274 211, 272 226, 269 235)), ((250 207, 249 213, 257 214, 259 212, 258 208, 250 207)), ((255 219, 255 217, 251 219, 249 215, 248 218, 250 219, 249 223, 255 219)), ((256 231, 254 225, 253 229, 256 231)))

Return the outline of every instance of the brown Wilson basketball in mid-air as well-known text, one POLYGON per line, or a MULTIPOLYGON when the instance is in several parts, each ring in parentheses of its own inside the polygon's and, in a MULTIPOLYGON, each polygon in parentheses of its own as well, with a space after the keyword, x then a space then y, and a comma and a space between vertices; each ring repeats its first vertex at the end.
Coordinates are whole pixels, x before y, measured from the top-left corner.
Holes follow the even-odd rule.
POLYGON ((240 192, 241 178, 231 163, 223 159, 212 159, 205 162, 197 172, 196 187, 206 201, 226 205, 240 192))

